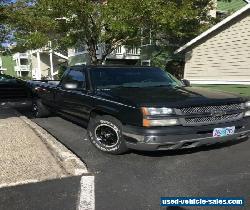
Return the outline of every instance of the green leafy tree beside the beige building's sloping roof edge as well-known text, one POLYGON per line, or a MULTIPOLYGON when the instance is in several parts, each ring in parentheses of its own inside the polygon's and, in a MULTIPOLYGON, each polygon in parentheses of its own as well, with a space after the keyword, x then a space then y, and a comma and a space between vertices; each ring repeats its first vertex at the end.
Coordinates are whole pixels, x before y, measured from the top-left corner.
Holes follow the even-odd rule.
MULTIPOLYGON (((151 16, 151 44, 142 47, 142 57, 151 65, 164 68, 175 57, 174 51, 214 24, 209 15, 211 0, 157 0, 151 16)), ((152 8, 152 7, 151 7, 152 8)), ((146 42, 147 44, 147 42, 146 42)), ((178 58, 180 59, 180 58, 178 58)))

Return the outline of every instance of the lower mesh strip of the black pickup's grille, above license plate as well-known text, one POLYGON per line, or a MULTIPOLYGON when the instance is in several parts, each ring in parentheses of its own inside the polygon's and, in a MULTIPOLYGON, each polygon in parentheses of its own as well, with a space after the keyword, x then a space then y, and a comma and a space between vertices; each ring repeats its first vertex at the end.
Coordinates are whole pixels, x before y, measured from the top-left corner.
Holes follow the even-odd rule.
POLYGON ((243 117, 242 113, 229 114, 223 116, 188 117, 185 118, 185 124, 186 125, 212 124, 212 123, 234 121, 241 119, 242 117, 243 117))

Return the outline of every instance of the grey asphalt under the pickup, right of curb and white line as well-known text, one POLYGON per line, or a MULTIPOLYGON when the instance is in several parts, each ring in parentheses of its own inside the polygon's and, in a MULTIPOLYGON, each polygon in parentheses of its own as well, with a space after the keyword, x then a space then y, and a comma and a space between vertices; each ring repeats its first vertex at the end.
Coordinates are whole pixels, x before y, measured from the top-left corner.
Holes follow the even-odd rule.
MULTIPOLYGON (((30 116, 28 110, 22 113, 30 116)), ((113 156, 97 151, 81 126, 60 117, 32 120, 78 155, 95 174, 97 210, 166 209, 160 207, 161 196, 244 197, 243 208, 207 209, 250 209, 250 140, 179 152, 131 151, 113 156)))

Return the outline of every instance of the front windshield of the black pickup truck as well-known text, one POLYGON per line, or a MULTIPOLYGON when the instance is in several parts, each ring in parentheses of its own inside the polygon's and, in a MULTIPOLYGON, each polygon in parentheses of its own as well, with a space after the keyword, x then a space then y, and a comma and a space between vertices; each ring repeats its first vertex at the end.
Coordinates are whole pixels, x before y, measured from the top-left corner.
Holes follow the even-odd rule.
POLYGON ((95 68, 90 72, 96 89, 183 86, 180 81, 159 68, 95 68))

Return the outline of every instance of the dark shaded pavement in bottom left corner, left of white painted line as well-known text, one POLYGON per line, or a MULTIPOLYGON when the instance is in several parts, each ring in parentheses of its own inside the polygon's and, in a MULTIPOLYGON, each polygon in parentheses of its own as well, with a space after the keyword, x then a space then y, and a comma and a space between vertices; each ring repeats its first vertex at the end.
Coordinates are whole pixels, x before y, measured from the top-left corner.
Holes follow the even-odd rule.
POLYGON ((80 177, 69 177, 0 189, 0 209, 77 209, 80 177))

